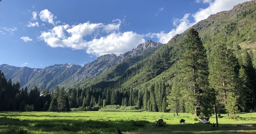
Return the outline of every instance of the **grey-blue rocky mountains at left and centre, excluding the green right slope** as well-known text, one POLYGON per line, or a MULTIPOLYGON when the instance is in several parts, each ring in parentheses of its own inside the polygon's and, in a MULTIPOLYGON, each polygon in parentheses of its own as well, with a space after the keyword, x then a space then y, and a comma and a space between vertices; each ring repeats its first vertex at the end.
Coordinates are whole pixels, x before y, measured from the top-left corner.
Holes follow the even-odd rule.
POLYGON ((0 65, 0 70, 3 71, 7 79, 11 78, 13 82, 20 82, 21 87, 27 86, 29 90, 35 85, 41 90, 44 86, 50 89, 55 86, 73 88, 84 85, 92 78, 105 72, 99 80, 94 80, 97 82, 120 77, 128 67, 153 54, 162 45, 148 40, 125 54, 119 56, 105 54, 93 62, 85 64, 83 67, 74 64, 59 64, 41 69, 20 68, 2 64, 0 65))

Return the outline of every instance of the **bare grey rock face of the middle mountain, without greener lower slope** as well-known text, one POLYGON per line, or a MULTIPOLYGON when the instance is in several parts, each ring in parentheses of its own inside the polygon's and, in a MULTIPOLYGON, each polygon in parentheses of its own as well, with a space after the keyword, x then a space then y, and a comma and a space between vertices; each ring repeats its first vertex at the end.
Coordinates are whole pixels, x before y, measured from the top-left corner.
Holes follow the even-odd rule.
POLYGON ((77 71, 67 80, 64 80, 60 86, 70 88, 83 85, 84 81, 88 81, 94 77, 99 76, 100 74, 105 73, 115 65, 129 60, 132 57, 139 56, 140 54, 143 54, 143 52, 150 51, 153 48, 156 50, 156 48, 159 48, 162 45, 163 44, 161 43, 155 43, 152 40, 148 40, 145 43, 139 44, 137 48, 134 48, 132 51, 128 51, 125 54, 120 54, 119 56, 116 56, 115 54, 102 55, 93 62, 85 64, 82 68, 79 69, 79 71, 77 71))

